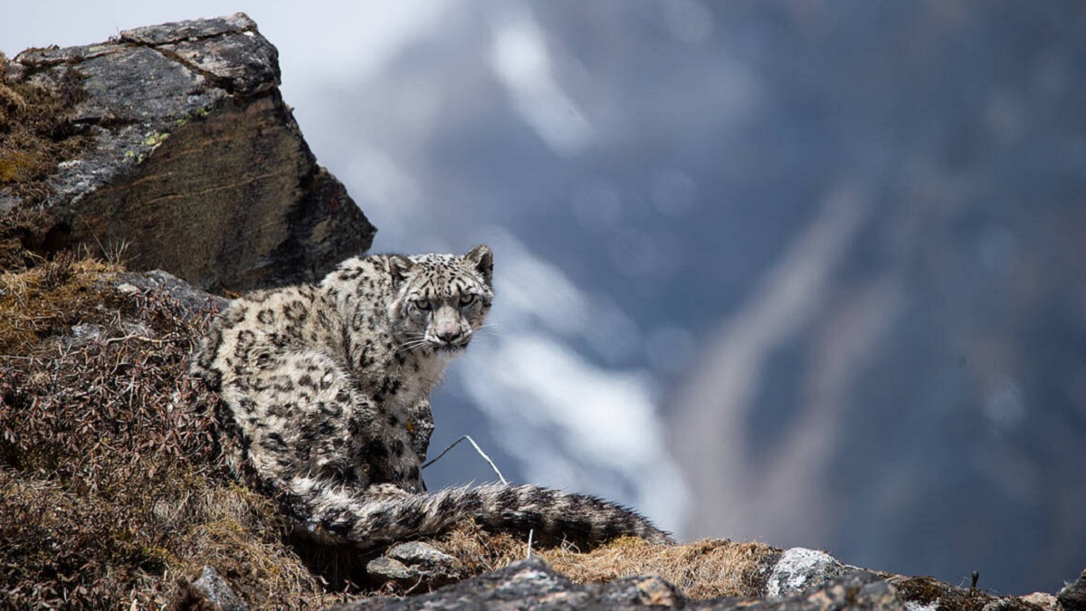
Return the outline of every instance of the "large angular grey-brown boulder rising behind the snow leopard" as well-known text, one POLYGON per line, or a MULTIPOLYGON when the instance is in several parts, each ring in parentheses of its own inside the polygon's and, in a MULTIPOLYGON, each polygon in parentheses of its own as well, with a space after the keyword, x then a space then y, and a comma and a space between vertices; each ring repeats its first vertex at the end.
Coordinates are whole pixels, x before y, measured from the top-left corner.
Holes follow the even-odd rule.
MULTIPOLYGON (((101 45, 31 49, 12 82, 81 82, 72 121, 91 150, 48 179, 68 244, 124 249, 207 289, 326 273, 375 228, 316 164, 283 103, 277 51, 238 13, 122 32, 101 45)), ((0 191, 0 209, 17 205, 0 191)))

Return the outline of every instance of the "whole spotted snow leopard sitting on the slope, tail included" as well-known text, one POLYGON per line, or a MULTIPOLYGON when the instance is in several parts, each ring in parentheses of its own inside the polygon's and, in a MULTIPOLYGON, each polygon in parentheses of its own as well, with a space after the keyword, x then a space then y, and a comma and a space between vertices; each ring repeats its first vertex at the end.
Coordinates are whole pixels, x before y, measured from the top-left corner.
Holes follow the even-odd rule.
POLYGON ((191 372, 225 406, 236 471, 320 541, 375 548, 471 520, 536 540, 670 543, 636 512, 589 495, 507 484, 427 491, 429 394, 493 298, 485 245, 463 255, 354 257, 316 285, 235 300, 191 372))

